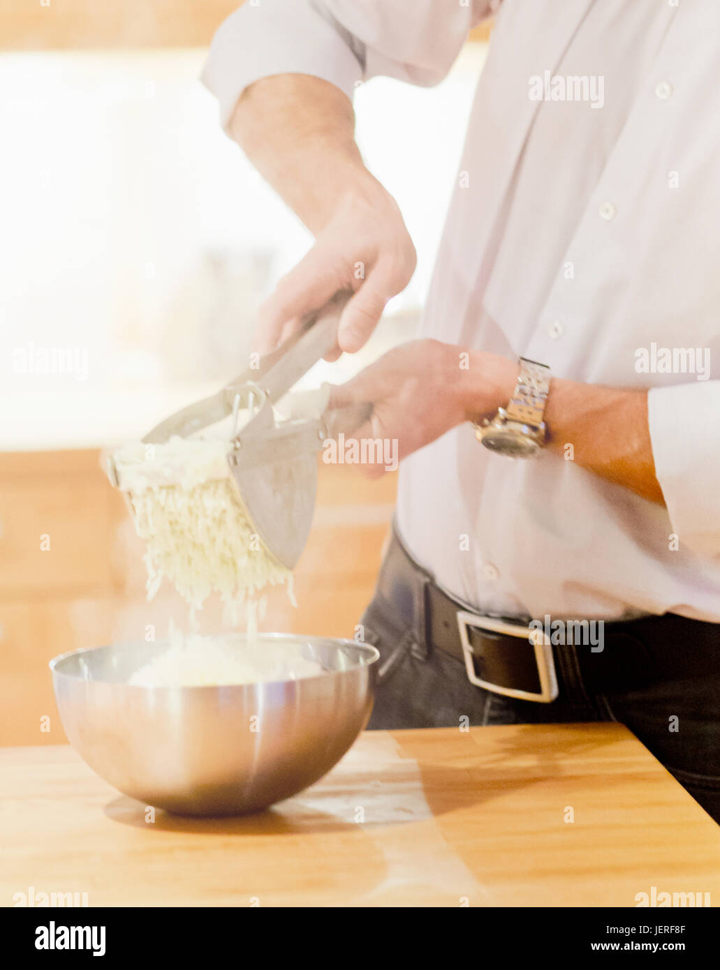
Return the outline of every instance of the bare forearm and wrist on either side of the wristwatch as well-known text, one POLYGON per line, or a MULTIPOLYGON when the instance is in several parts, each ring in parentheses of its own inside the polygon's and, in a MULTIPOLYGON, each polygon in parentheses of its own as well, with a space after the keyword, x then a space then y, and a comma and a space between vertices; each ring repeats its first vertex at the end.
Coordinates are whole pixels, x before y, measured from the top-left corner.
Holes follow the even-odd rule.
MULTIPOLYGON (((504 406, 515 387, 517 365, 506 358, 475 353, 480 354, 480 360, 471 369, 477 381, 477 397, 473 400, 471 395, 469 413, 475 414, 477 420, 495 413, 490 413, 479 385, 486 388, 489 378, 490 386, 497 389, 497 406, 504 406)), ((545 423, 549 430, 548 450, 644 499, 665 504, 655 474, 644 389, 604 387, 554 377, 545 423)))

